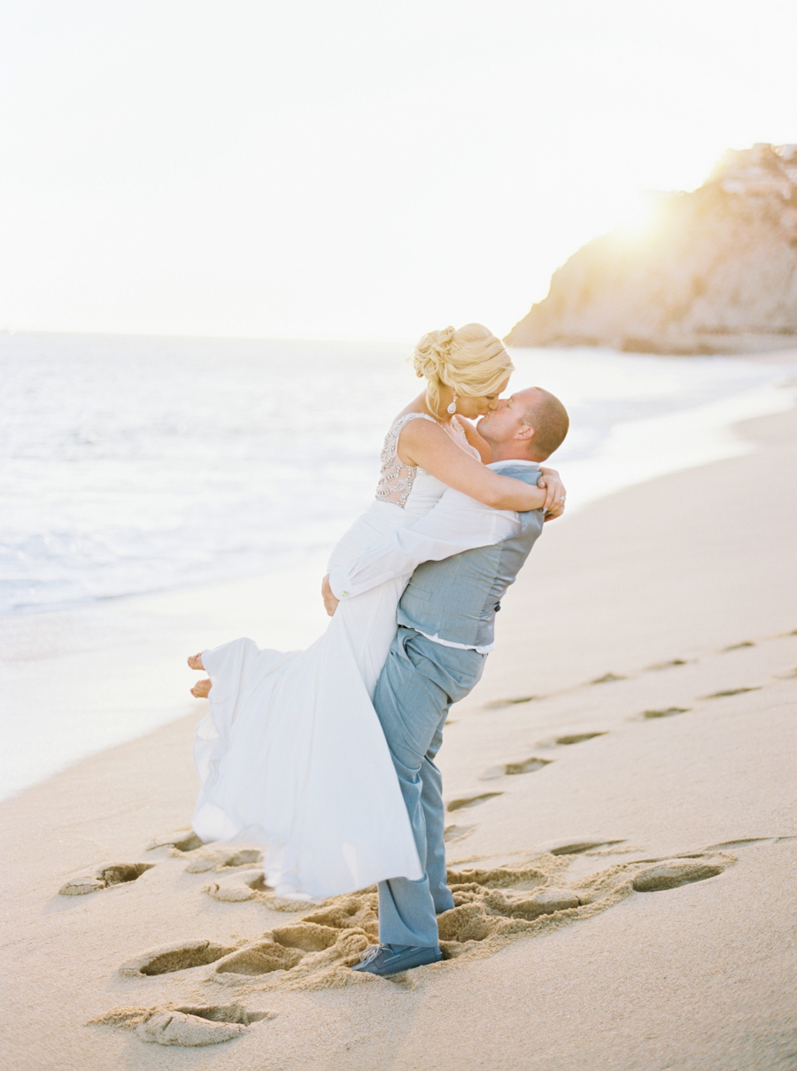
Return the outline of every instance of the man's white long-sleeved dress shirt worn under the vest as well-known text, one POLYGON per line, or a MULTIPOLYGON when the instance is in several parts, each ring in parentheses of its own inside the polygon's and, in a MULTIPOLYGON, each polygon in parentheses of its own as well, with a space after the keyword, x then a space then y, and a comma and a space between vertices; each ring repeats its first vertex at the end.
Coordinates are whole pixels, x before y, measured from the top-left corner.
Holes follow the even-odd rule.
MULTIPOLYGON (((499 472, 506 465, 536 465, 511 458, 493 462, 487 468, 499 472)), ((350 599, 362 594, 395 576, 409 577, 422 561, 440 561, 477 546, 500 543, 520 530, 521 522, 514 510, 494 510, 460 491, 449 487, 430 512, 407 528, 400 528, 363 550, 352 562, 335 569, 329 575, 332 594, 350 599)), ((486 654, 488 647, 454 644, 439 636, 422 633, 427 639, 445 647, 458 647, 486 654)))

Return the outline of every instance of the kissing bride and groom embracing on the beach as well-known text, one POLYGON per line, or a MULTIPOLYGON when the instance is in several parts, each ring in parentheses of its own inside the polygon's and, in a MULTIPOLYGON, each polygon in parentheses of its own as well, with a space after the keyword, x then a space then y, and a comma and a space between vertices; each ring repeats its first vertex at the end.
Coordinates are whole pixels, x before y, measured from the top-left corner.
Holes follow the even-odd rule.
POLYGON ((324 635, 304 651, 241 638, 189 660, 210 703, 195 831, 261 844, 282 896, 376 883, 379 944, 352 966, 376 975, 440 959, 436 916, 453 906, 442 726, 566 497, 542 463, 567 411, 538 387, 501 397, 514 368, 500 340, 477 323, 433 331, 412 362, 426 387, 388 432, 374 502, 332 550, 324 635))

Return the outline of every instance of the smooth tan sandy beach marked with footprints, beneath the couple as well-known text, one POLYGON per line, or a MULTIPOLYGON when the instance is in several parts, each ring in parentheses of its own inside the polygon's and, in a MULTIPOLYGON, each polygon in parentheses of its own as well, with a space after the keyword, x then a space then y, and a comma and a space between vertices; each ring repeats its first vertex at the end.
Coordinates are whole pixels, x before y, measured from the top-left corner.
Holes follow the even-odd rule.
POLYGON ((794 1068, 797 410, 738 431, 508 593, 440 754, 443 962, 355 976, 373 893, 276 902, 192 843, 197 702, 0 804, 3 1067, 794 1068))

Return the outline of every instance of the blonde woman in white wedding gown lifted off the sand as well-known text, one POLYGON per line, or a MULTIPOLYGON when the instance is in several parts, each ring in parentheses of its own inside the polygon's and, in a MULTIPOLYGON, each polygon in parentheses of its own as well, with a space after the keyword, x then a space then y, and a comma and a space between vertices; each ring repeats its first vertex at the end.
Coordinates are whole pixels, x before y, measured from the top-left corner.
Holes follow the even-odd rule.
MULTIPOLYGON (((412 357, 426 390, 390 427, 376 500, 332 550, 329 571, 413 524, 455 487, 501 510, 561 512, 558 474, 540 486, 499 476, 469 423, 495 409, 513 365, 486 328, 424 335, 412 357)), ((252 639, 189 659, 208 679, 194 759, 201 788, 193 827, 204 841, 265 846, 279 895, 326 897, 422 869, 393 764, 372 706, 396 632, 402 576, 345 600, 305 651, 259 650, 252 639)))

